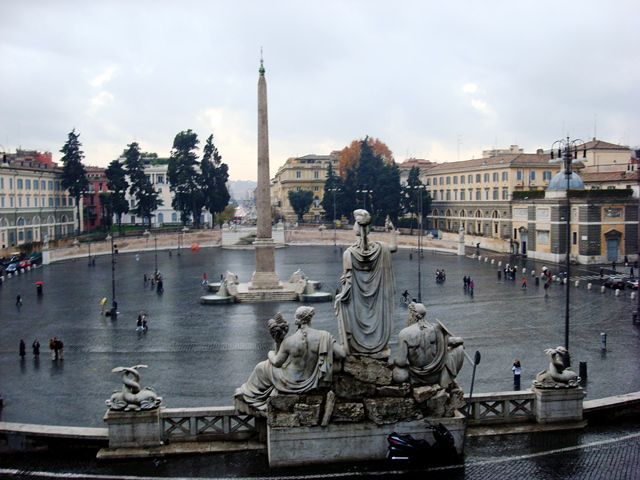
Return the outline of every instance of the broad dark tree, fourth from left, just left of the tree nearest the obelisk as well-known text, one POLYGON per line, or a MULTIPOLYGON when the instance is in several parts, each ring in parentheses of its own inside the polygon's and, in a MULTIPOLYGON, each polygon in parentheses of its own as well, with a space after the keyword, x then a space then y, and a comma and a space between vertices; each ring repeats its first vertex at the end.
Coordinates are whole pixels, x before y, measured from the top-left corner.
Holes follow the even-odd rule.
POLYGON ((200 226, 200 213, 205 204, 196 154, 199 143, 198 135, 192 130, 179 132, 173 140, 167 170, 169 188, 174 192, 171 205, 180 212, 183 224, 193 218, 195 228, 200 226))

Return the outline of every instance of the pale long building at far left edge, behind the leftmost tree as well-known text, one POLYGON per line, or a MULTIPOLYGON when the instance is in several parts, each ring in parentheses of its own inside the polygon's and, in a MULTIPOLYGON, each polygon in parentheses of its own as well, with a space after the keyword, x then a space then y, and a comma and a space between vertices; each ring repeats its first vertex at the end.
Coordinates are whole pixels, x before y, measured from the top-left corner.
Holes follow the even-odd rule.
MULTIPOLYGON (((18 150, 0 163, 0 246, 3 254, 20 245, 72 235, 75 204, 61 186, 62 169, 51 153, 18 150)), ((82 215, 82 212, 81 212, 82 215)))

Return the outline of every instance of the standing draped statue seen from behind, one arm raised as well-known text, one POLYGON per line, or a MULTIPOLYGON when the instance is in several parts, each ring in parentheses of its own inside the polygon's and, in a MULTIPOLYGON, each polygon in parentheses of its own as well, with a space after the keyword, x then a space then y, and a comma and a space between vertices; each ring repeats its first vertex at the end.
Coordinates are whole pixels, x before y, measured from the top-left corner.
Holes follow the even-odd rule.
POLYGON ((395 296, 391 253, 398 249, 397 233, 387 217, 391 245, 369 241, 371 215, 366 210, 355 210, 353 215, 357 242, 342 257, 341 287, 334 304, 341 342, 349 354, 388 357, 395 296))

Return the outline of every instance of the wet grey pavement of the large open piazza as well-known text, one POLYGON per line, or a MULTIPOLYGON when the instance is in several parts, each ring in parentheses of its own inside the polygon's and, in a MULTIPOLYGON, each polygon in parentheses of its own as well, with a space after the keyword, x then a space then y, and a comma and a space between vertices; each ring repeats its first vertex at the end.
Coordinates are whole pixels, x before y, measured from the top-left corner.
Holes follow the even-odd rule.
MULTIPOLYGON (((104 401, 120 388, 119 375, 111 369, 137 364, 149 366, 142 371, 141 383, 154 386, 167 407, 231 405, 235 388, 272 348, 266 320, 281 311, 293 327, 296 303, 200 305, 203 272, 214 280, 230 270, 247 281, 253 271, 253 251, 208 248, 183 250, 180 256, 158 251, 162 295, 143 285, 144 273, 154 270, 153 251, 141 252, 139 260, 133 253, 120 254, 117 261, 121 312, 117 320, 100 315, 100 299, 111 296, 109 256, 98 257, 95 267, 87 266, 86 259, 52 264, 0 287, 1 420, 103 426, 104 401), (45 283, 41 298, 34 285, 40 280, 45 283), (24 302, 20 309, 15 305, 17 294, 24 302), (149 315, 145 334, 135 331, 140 310, 149 315), (52 361, 49 356, 47 343, 54 335, 64 341, 64 360, 52 361), (39 360, 30 350, 36 337, 42 344, 39 360), (24 361, 18 356, 21 338, 27 343, 24 361)), ((417 255, 400 250, 393 261, 398 298, 394 332, 398 332, 407 314, 400 293, 408 289, 417 296, 417 255)), ((475 392, 511 390, 514 358, 522 362, 523 387, 546 368, 544 350, 564 342, 562 286, 552 286, 545 297, 531 277, 526 290, 520 288, 520 275, 515 282, 498 280, 497 265, 433 252, 425 253, 422 262, 422 297, 429 318, 438 318, 453 334, 464 337, 469 353, 482 353, 475 392), (446 269, 445 283, 436 284, 436 268, 446 269), (473 298, 463 291, 463 275, 474 279, 473 298)), ((276 265, 282 279, 301 267, 325 289, 335 290, 341 252, 331 246, 291 246, 276 250, 276 265)), ((576 269, 577 276, 593 273, 576 269)), ((572 359, 576 370, 578 362, 588 364, 587 399, 640 390, 640 332, 631 324, 634 303, 629 291, 615 297, 611 290, 587 291, 583 282, 572 288, 571 305, 572 359), (606 353, 600 350, 601 332, 608 335, 606 353)), ((337 334, 332 304, 314 307, 314 326, 337 334)), ((466 391, 470 379, 471 368, 466 365, 459 376, 466 391)))

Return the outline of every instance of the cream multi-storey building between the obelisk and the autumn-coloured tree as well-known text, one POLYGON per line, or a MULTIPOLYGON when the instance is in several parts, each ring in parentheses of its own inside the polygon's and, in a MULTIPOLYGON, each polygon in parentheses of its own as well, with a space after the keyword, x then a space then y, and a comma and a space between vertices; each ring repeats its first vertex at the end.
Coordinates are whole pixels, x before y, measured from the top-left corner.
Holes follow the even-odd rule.
POLYGON ((289 192, 308 190, 313 192, 313 203, 304 219, 307 222, 322 221, 324 210, 321 202, 327 168, 331 164, 337 174, 338 156, 339 152, 331 152, 329 155, 305 155, 287 159, 271 179, 271 205, 274 213, 283 216, 288 222, 295 222, 297 215, 289 203, 289 192))

